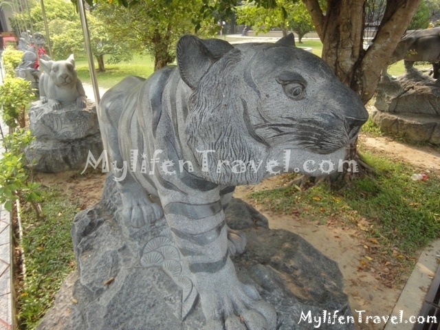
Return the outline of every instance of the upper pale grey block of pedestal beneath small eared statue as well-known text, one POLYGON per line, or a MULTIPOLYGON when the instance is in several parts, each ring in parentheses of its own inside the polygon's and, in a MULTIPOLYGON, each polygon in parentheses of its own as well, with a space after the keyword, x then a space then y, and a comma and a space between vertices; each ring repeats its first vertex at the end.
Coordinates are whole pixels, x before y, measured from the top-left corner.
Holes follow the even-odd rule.
POLYGON ((94 102, 86 108, 67 104, 54 111, 50 104, 34 102, 29 110, 30 130, 39 140, 67 142, 100 133, 94 102))

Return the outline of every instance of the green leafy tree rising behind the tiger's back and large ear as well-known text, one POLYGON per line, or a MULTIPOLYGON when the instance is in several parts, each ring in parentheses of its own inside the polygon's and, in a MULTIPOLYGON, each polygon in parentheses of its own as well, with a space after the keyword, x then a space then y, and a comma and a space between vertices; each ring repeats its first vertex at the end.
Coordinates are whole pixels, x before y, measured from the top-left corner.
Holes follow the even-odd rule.
POLYGON ((187 33, 212 36, 217 25, 211 19, 195 21, 200 16, 200 0, 179 1, 137 1, 129 8, 100 2, 96 10, 106 25, 112 27, 112 34, 120 41, 131 40, 134 47, 153 56, 155 69, 172 63, 175 58, 175 44, 187 33))

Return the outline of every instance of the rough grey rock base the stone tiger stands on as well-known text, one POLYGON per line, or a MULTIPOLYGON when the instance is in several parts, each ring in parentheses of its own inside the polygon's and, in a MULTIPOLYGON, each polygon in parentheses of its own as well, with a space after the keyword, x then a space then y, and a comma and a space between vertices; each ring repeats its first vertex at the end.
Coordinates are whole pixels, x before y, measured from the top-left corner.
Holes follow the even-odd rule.
MULTIPOLYGON (((78 271, 37 329, 203 329, 195 287, 166 221, 127 228, 120 203, 110 176, 102 201, 77 214, 72 237, 78 271)), ((233 258, 236 272, 275 307, 277 329, 314 329, 314 317, 335 312, 346 324, 322 320, 319 329, 355 329, 347 323, 351 310, 334 261, 292 232, 270 230, 267 219, 240 199, 232 199, 225 214, 229 227, 248 239, 244 254, 233 258)))

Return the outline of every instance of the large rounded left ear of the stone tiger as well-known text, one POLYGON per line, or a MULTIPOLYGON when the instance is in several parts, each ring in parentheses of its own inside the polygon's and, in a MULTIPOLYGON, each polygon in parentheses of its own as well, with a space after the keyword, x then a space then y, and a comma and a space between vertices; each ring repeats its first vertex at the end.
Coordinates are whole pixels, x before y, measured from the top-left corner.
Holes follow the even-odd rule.
POLYGON ((212 63, 216 62, 234 47, 226 41, 207 39, 186 34, 177 42, 177 66, 182 80, 191 89, 196 89, 212 63))

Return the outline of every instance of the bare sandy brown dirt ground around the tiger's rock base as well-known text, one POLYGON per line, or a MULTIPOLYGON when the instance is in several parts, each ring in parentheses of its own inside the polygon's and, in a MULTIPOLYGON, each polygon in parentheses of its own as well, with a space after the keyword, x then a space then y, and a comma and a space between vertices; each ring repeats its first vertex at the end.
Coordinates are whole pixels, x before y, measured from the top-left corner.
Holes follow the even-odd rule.
MULTIPOLYGON (((440 171, 440 151, 428 146, 406 146, 394 142, 388 137, 370 137, 360 135, 359 143, 364 149, 384 153, 388 157, 409 162, 418 166, 420 170, 431 172, 440 171)), ((82 208, 93 206, 98 202, 102 192, 104 175, 89 174, 87 179, 78 179, 76 173, 60 173, 57 175, 40 174, 43 184, 62 187, 72 197, 80 197, 82 208)), ((344 276, 344 292, 349 296, 352 311, 364 310, 364 315, 387 316, 393 307, 401 287, 387 285, 377 279, 372 272, 360 270, 360 263, 365 255, 364 239, 358 229, 344 228, 333 223, 311 223, 307 219, 300 219, 292 215, 273 214, 264 210, 247 197, 254 190, 276 188, 283 185, 280 177, 271 177, 256 186, 240 186, 236 188, 234 197, 239 197, 261 211, 270 221, 270 228, 285 229, 303 236, 329 258, 338 262, 344 276)), ((357 314, 355 314, 357 315, 357 314)), ((383 329, 384 325, 369 323, 358 324, 357 329, 383 329)))

